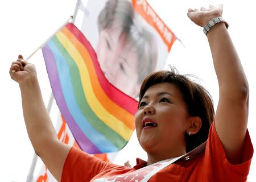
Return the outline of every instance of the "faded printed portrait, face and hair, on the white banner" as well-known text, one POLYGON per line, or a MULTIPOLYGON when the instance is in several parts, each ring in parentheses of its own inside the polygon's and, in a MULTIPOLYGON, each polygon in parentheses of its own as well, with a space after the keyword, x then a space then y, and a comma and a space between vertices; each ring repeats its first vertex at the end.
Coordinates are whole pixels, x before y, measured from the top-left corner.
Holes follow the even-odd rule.
POLYGON ((154 36, 137 22, 130 1, 109 0, 98 15, 98 61, 108 80, 131 97, 138 97, 144 77, 155 70, 154 36))

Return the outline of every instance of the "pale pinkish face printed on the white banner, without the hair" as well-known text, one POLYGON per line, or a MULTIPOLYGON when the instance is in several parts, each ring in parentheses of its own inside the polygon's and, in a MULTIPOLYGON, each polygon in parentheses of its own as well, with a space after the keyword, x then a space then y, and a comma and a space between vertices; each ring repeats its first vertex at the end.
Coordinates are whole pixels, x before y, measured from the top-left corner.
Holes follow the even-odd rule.
POLYGON ((102 30, 96 48, 106 78, 118 89, 135 97, 138 94, 137 51, 127 48, 121 28, 102 30))

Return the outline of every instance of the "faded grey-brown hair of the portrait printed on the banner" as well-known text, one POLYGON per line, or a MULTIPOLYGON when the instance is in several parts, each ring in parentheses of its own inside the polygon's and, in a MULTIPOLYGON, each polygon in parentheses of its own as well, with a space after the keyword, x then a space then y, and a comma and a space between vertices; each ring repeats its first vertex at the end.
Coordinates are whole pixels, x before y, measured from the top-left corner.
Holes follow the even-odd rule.
POLYGON ((138 23, 131 2, 109 0, 98 15, 98 31, 121 28, 121 35, 126 36, 126 48, 136 51, 138 82, 142 82, 148 73, 155 70, 157 44, 151 32, 138 23), (147 66, 147 67, 145 67, 147 66))

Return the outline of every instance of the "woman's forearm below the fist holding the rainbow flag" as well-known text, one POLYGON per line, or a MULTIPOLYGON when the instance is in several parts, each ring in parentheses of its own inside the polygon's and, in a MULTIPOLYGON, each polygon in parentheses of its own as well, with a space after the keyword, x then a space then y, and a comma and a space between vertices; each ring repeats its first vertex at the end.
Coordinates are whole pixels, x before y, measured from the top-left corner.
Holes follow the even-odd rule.
POLYGON ((38 79, 30 78, 19 86, 28 137, 36 154, 40 155, 44 145, 50 140, 57 140, 57 135, 44 105, 38 79))

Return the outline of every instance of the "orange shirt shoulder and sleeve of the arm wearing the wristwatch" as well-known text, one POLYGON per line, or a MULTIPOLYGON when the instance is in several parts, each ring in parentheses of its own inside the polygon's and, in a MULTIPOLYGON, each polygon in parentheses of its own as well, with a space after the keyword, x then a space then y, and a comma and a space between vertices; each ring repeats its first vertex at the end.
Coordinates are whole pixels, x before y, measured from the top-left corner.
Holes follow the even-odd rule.
POLYGON ((213 122, 204 150, 196 155, 190 155, 187 160, 179 160, 173 165, 172 170, 179 166, 175 170, 183 172, 184 181, 246 181, 253 156, 249 131, 246 132, 241 154, 239 164, 228 161, 213 122))

